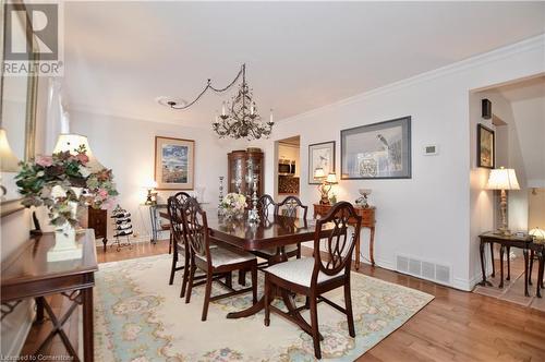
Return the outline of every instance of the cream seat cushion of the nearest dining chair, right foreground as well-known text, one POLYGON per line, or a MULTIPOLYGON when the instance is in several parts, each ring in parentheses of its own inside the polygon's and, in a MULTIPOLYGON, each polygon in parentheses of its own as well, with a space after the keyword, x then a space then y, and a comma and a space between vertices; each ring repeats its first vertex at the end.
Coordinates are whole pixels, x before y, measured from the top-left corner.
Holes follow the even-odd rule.
MULTIPOLYGON (((314 257, 303 257, 286 263, 275 264, 265 269, 266 273, 270 273, 281 279, 287 281, 303 286, 311 287, 312 272, 314 270, 314 257)), ((339 272, 337 275, 326 275, 325 273, 318 274, 318 283, 327 281, 329 279, 341 276, 344 270, 339 272)))

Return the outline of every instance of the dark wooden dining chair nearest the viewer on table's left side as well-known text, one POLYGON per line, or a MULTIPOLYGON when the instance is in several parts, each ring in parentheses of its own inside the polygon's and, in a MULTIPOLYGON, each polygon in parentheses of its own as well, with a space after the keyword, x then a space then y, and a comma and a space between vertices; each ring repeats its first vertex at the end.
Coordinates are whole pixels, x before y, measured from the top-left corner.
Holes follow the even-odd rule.
POLYGON ((206 321, 208 315, 208 305, 211 301, 223 299, 241 293, 252 291, 253 302, 257 301, 257 258, 255 255, 227 249, 222 245, 210 248, 210 236, 206 212, 204 212, 198 202, 191 197, 182 206, 183 234, 190 249, 190 275, 185 303, 191 301, 191 292, 195 280, 196 269, 201 269, 206 275, 206 290, 203 305, 202 321, 206 321), (231 275, 232 272, 250 272, 252 274, 252 287, 234 290, 232 283, 223 282, 220 278, 231 275), (217 281, 221 283, 229 292, 211 297, 211 283, 217 281))

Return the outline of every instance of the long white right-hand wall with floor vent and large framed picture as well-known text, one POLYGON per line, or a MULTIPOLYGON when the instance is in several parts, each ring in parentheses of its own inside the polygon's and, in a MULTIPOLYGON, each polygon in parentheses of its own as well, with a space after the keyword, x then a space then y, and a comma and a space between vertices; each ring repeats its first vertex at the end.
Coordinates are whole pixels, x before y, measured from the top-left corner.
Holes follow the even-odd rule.
MULTIPOLYGON (((412 179, 340 181, 338 198, 353 201, 358 189, 373 190, 371 202, 377 206, 375 260, 379 266, 393 269, 396 255, 413 255, 450 265, 451 285, 471 290, 479 274, 470 268, 470 250, 477 248, 470 219, 477 215, 471 212, 470 203, 470 155, 475 141, 469 92, 544 72, 543 39, 506 47, 278 122, 274 140, 263 142, 267 180, 274 177, 275 140, 300 134, 302 149, 312 143, 337 141, 340 165, 340 130, 411 116, 412 179), (422 155, 422 147, 429 143, 439 145, 438 156, 422 155)), ((301 162, 307 164, 307 152, 302 153, 301 162)), ((306 172, 302 167, 302 180, 306 180, 306 172)), ((266 183, 268 193, 272 193, 270 185, 266 183)), ((315 186, 301 185, 303 202, 317 202, 315 186)))

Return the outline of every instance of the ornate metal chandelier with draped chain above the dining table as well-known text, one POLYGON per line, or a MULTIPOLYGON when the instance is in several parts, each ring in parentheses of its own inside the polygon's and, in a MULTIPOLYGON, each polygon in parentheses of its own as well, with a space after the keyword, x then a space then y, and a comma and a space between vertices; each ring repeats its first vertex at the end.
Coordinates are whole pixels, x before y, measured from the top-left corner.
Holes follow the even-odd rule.
POLYGON ((268 138, 275 122, 272 121, 272 109, 268 121, 262 120, 257 112, 255 101, 252 99, 252 88, 246 82, 246 64, 242 64, 239 74, 234 80, 225 88, 215 88, 211 85, 211 80, 208 80, 206 87, 201 94, 191 102, 180 105, 177 101, 168 101, 167 105, 173 109, 186 109, 194 105, 208 89, 216 93, 223 93, 230 89, 242 77, 242 83, 235 96, 232 97, 229 104, 223 101, 221 107, 221 114, 216 114, 213 122, 213 130, 219 135, 220 138, 246 138, 259 140, 261 137, 268 138))

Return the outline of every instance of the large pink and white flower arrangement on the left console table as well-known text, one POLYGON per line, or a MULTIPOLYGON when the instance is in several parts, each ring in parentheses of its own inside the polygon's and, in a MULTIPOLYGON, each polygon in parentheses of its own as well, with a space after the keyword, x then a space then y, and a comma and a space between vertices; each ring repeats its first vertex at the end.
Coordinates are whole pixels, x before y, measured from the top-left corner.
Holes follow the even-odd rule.
POLYGON ((111 170, 92 172, 85 146, 51 156, 38 156, 35 160, 21 162, 16 176, 22 204, 26 207, 46 206, 51 224, 62 227, 66 222, 77 226, 78 206, 108 208, 113 204, 118 191, 111 170))

